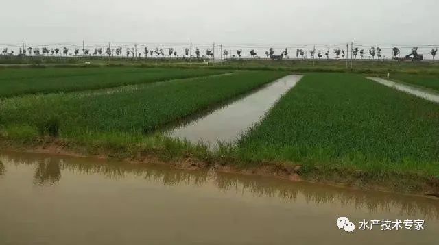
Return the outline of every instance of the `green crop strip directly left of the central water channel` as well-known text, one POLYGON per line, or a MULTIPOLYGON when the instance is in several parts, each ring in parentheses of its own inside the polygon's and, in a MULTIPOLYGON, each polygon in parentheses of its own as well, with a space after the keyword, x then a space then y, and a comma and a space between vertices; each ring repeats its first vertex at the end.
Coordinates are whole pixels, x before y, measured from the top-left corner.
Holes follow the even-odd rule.
POLYGON ((116 92, 3 99, 0 128, 17 138, 38 135, 78 138, 93 132, 146 133, 283 75, 285 73, 237 72, 116 92))

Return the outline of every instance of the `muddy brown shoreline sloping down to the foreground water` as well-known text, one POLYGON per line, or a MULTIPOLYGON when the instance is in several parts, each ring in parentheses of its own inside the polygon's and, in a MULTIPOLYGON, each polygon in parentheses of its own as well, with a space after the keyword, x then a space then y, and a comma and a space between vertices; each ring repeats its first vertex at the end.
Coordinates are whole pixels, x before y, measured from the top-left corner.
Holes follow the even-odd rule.
MULTIPOLYGON (((256 166, 238 166, 233 163, 227 163, 225 159, 209 159, 202 160, 193 156, 178 157, 178 159, 163 159, 157 154, 145 154, 137 153, 131 157, 115 157, 114 153, 110 151, 99 154, 86 153, 86 151, 71 149, 66 147, 62 142, 46 142, 45 144, 34 145, 34 146, 14 146, 13 144, 1 142, 1 152, 13 152, 13 153, 41 153, 47 155, 58 155, 67 157, 85 157, 92 159, 109 160, 115 159, 121 162, 128 162, 130 164, 160 164, 171 166, 180 170, 214 170, 220 173, 231 173, 237 175, 252 175, 259 177, 272 177, 276 179, 284 179, 292 182, 307 182, 316 185, 328 185, 336 188, 345 188, 349 190, 373 190, 379 192, 397 193, 397 194, 408 194, 410 196, 423 196, 425 198, 434 198, 439 200, 439 179, 431 179, 430 181, 425 181, 422 179, 413 179, 407 177, 407 179, 399 179, 399 184, 405 185, 405 183, 417 183, 420 188, 416 190, 407 190, 403 188, 395 188, 390 183, 368 181, 368 179, 355 179, 357 176, 363 177, 366 173, 356 172, 357 175, 351 175, 346 173, 346 177, 340 178, 329 177, 329 175, 322 175, 320 171, 316 171, 313 177, 305 177, 302 175, 302 166, 286 163, 261 163, 256 166), (354 178, 354 179, 353 179, 354 178)), ((335 172, 338 172, 336 170, 335 172)))

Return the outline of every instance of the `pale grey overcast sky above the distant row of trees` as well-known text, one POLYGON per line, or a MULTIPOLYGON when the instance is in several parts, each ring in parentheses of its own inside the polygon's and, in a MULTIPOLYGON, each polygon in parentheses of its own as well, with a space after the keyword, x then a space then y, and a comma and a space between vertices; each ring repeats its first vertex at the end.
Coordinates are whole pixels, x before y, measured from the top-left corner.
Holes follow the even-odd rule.
POLYGON ((5 0, 5 42, 438 44, 438 0, 5 0))

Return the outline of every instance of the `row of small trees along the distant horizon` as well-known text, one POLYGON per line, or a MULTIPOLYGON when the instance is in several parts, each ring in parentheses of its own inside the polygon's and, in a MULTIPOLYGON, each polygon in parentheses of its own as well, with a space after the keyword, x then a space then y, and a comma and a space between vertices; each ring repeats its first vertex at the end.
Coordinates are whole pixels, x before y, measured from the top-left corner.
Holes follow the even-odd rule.
MULTIPOLYGON (((364 55, 366 54, 364 49, 359 49, 358 47, 353 48, 352 50, 352 55, 357 58, 357 55, 359 55, 361 57, 361 59, 364 58, 364 55)), ((60 52, 62 53, 62 55, 80 55, 80 49, 73 49, 73 54, 69 53, 69 48, 64 47, 63 49, 60 48, 56 48, 56 49, 47 49, 47 47, 43 47, 43 48, 32 48, 32 47, 27 47, 27 48, 20 48, 19 49, 19 55, 59 55, 60 52)), ((14 55, 14 51, 11 50, 10 52, 8 52, 8 48, 5 48, 1 51, 1 53, 3 55, 14 55)), ((141 57, 141 53, 137 53, 137 49, 135 47, 132 48, 126 48, 125 52, 123 52, 122 47, 117 47, 115 49, 111 49, 110 47, 107 47, 105 52, 103 48, 96 48, 94 49, 93 53, 91 53, 91 51, 89 49, 82 49, 82 55, 93 55, 93 56, 102 56, 102 55, 108 55, 108 56, 121 56, 124 53, 124 55, 126 55, 126 57, 136 57, 137 55, 139 55, 139 57, 141 57)), ((268 49, 268 51, 265 51, 265 55, 266 57, 270 57, 273 58, 274 57, 274 49, 270 48, 268 49)), ((327 57, 327 59, 329 60, 329 55, 331 53, 331 49, 327 49, 326 52, 322 53, 322 51, 318 51, 317 52, 317 57, 318 59, 322 58, 323 55, 327 57)), ((343 49, 340 48, 336 48, 333 49, 333 53, 336 55, 337 59, 340 58, 340 55, 342 56, 342 58, 344 58, 346 56, 346 53, 343 49)), ((370 49, 368 50, 368 53, 370 54, 369 57, 372 57, 373 59, 375 59, 375 56, 377 56, 379 59, 381 57, 383 57, 382 55, 382 49, 380 47, 370 47, 370 49)), ((396 57, 399 57, 401 51, 398 47, 394 47, 392 48, 392 57, 394 59, 396 59, 396 57)), ((431 51, 431 56, 433 57, 433 59, 436 57, 436 53, 438 53, 438 48, 432 48, 431 51)), ((289 58, 289 51, 288 48, 285 48, 285 50, 281 51, 281 55, 278 55, 280 57, 287 57, 289 58)), ((316 49, 311 49, 309 51, 309 54, 312 58, 315 57, 316 55, 316 49)), ((143 50, 143 55, 144 57, 148 57, 148 55, 150 55, 150 57, 153 57, 154 55, 156 55, 156 57, 165 57, 167 55, 167 57, 178 57, 178 53, 174 48, 167 48, 167 52, 165 52, 165 49, 148 49, 147 47, 144 48, 143 50), (166 54, 167 53, 167 54, 166 54)), ((206 53, 205 55, 202 55, 200 52, 200 49, 198 49, 198 47, 195 49, 195 57, 199 58, 201 57, 213 57, 214 52, 213 49, 206 49, 206 53)), ((242 55, 242 49, 237 49, 236 50, 236 55, 232 55, 231 53, 229 53, 228 50, 225 50, 222 55, 224 55, 224 57, 228 57, 228 55, 230 55, 230 57, 241 57, 242 55)), ((418 47, 414 47, 412 48, 412 55, 413 57, 417 57, 418 56, 418 47)), ((190 55, 192 56, 192 55, 190 55)), ((304 51, 303 49, 297 49, 296 50, 296 58, 299 58, 299 56, 301 57, 301 59, 305 59, 307 57, 307 53, 306 51, 304 51)), ((185 51, 183 53, 183 57, 189 57, 189 49, 185 48, 185 51)), ((254 49, 252 49, 250 51, 250 57, 255 58, 258 57, 257 53, 254 51, 254 49)))

